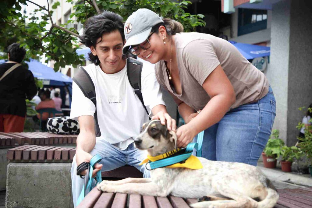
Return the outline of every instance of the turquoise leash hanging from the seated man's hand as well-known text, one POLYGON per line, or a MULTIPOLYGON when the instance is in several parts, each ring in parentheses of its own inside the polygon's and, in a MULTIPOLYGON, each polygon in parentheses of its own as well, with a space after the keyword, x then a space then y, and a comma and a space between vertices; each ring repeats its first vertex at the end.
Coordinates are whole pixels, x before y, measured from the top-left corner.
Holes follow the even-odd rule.
POLYGON ((82 187, 82 190, 81 190, 81 193, 77 199, 77 203, 76 203, 76 206, 78 206, 80 204, 80 202, 85 198, 85 190, 89 190, 91 191, 92 189, 92 182, 93 182, 93 179, 96 180, 96 183, 95 183, 95 186, 102 182, 102 176, 101 176, 101 171, 98 171, 96 173, 96 176, 94 178, 92 178, 92 173, 93 173, 93 169, 94 169, 94 165, 98 162, 101 161, 101 157, 99 154, 96 154, 95 156, 93 156, 90 160, 90 164, 89 164, 89 180, 88 180, 88 183, 87 183, 87 186, 85 188, 85 184, 83 185, 82 187))

